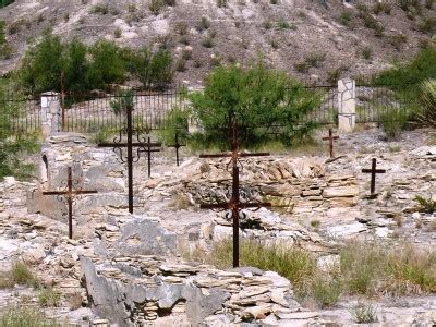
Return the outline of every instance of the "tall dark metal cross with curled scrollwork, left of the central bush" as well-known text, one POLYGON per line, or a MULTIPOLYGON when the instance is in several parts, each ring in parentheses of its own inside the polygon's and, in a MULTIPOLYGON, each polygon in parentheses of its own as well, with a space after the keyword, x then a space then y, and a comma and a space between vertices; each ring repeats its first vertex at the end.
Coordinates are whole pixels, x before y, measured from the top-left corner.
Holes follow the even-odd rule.
POLYGON ((125 108, 128 124, 125 132, 128 134, 128 142, 122 142, 122 129, 120 130, 120 135, 113 138, 113 143, 100 143, 98 147, 111 147, 113 152, 120 153, 120 159, 122 162, 128 164, 128 183, 129 183, 129 213, 133 214, 133 162, 137 162, 141 157, 141 153, 148 154, 148 177, 150 177, 150 161, 152 161, 152 153, 157 152, 153 147, 161 146, 160 143, 152 143, 148 137, 148 142, 145 142, 144 138, 140 138, 140 135, 136 134, 137 142, 133 142, 133 126, 132 126, 132 105, 128 105, 125 108), (133 148, 136 148, 136 156, 133 155, 133 148), (128 156, 123 157, 123 148, 128 149, 128 156))

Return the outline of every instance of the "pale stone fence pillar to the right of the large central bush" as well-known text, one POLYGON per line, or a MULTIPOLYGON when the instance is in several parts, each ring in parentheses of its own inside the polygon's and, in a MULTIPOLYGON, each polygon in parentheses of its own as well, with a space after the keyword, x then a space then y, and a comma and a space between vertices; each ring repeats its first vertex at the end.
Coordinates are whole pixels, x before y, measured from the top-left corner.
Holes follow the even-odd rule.
POLYGON ((355 81, 343 78, 338 81, 338 130, 349 133, 355 126, 355 81))

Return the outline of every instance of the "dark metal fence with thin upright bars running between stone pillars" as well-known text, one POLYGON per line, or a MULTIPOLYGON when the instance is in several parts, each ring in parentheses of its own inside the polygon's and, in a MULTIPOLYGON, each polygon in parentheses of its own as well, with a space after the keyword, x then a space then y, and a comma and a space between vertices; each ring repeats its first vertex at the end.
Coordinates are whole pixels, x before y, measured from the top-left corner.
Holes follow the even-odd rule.
MULTIPOLYGON (((322 95, 320 105, 301 119, 301 123, 337 124, 338 86, 304 82, 306 89, 322 95)), ((135 129, 160 130, 165 119, 174 109, 190 107, 185 87, 173 87, 164 92, 126 90, 123 93, 88 94, 41 94, 23 96, 7 93, 0 100, 0 114, 5 116, 9 129, 15 134, 32 133, 41 129, 43 116, 48 107, 58 102, 60 108, 60 131, 96 133, 101 129, 119 130, 124 126, 125 118, 119 108, 131 101, 134 108, 135 129), (48 105, 47 105, 48 104, 48 105)), ((201 92, 201 89, 196 89, 201 92)), ((395 110, 407 110, 408 102, 398 97, 396 87, 358 80, 355 84, 355 108, 358 123, 380 123, 384 117, 395 110)), ((392 116, 393 117, 393 116, 392 116)))

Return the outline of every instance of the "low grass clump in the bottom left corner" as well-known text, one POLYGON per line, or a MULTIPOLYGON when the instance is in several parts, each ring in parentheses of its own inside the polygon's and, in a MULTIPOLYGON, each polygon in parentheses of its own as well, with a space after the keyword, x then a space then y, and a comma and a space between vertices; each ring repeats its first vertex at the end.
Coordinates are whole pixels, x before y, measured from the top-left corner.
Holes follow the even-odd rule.
POLYGON ((65 326, 56 319, 46 317, 46 315, 36 307, 28 306, 7 306, 0 310, 0 326, 2 327, 22 327, 22 326, 45 326, 61 327, 65 326))

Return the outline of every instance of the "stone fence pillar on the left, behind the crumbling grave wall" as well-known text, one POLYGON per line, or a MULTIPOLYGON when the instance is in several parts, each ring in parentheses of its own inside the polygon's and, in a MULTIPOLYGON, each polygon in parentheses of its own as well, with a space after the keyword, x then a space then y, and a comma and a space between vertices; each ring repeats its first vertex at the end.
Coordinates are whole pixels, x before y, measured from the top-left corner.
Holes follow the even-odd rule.
POLYGON ((41 94, 41 131, 45 137, 61 131, 60 95, 56 92, 41 94))

